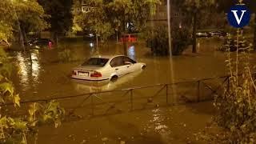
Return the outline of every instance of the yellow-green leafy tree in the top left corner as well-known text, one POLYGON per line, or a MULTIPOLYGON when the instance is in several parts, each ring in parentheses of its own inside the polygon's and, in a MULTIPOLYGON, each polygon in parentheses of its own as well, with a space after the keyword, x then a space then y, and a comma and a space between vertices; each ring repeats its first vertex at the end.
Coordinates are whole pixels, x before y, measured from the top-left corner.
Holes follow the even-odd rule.
POLYGON ((24 47, 24 39, 30 31, 41 31, 46 28, 44 10, 36 0, 2 0, 0 2, 0 38, 8 40, 19 34, 20 46, 24 47))

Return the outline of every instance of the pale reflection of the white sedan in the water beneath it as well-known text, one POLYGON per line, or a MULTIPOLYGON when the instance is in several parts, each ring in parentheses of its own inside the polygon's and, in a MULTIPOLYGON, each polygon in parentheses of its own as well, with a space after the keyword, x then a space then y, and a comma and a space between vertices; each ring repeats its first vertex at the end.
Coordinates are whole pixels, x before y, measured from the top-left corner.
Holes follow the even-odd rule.
POLYGON ((77 91, 86 91, 91 93, 96 91, 114 90, 127 82, 132 82, 134 78, 138 77, 138 75, 142 73, 142 71, 143 70, 138 70, 134 73, 127 74, 121 78, 118 78, 117 82, 89 82, 76 79, 72 80, 72 82, 74 83, 74 88, 77 91))

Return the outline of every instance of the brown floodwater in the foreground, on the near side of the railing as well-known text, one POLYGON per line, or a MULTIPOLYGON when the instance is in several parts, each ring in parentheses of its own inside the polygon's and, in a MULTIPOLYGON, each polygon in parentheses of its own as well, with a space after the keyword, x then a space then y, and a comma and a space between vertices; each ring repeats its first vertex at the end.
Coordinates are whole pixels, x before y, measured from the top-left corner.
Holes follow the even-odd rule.
POLYGON ((42 126, 38 144, 203 143, 194 134, 205 129, 213 113, 211 102, 203 102, 65 122, 57 129, 42 126))

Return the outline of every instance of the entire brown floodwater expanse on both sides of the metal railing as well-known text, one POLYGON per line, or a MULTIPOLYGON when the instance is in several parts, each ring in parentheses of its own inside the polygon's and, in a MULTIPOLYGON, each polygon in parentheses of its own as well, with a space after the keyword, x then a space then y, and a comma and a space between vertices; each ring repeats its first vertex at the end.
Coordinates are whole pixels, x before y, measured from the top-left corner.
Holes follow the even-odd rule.
MULTIPOLYGON (((227 74, 225 54, 215 51, 216 42, 214 45, 208 41, 202 42, 198 54, 192 54, 188 49, 183 55, 172 58, 153 56, 150 54, 150 49, 139 43, 129 46, 128 55, 138 62, 145 62, 146 70, 127 74, 118 78, 117 82, 74 80, 70 78, 72 68, 82 64, 94 54, 122 54, 122 44, 113 42, 100 46, 98 51, 90 42, 68 43, 65 46, 71 50, 70 62, 59 62, 58 50, 10 53, 14 61, 18 62, 19 70, 13 74, 12 80, 22 101, 69 96, 70 98, 66 100, 59 100, 61 106, 67 108, 66 113, 69 114, 68 109, 71 109, 76 117, 85 118, 80 121, 66 118, 67 122, 58 129, 54 129, 53 126, 42 126, 38 143, 194 142, 193 134, 200 132, 214 114, 211 102, 158 107, 166 106, 167 96, 174 98, 177 91, 180 97, 195 98, 198 94, 196 91, 198 79, 216 78, 227 74), (127 90, 127 88, 187 81, 194 83, 184 83, 174 88, 163 85, 163 91, 162 85, 127 90), (88 97, 76 96, 108 90, 115 91, 88 95, 88 97), (99 117, 89 118, 90 115, 99 117)), ((254 57, 251 61, 254 62, 254 57)), ((198 86, 198 88, 199 91, 206 90, 206 86, 198 86)), ((204 91, 201 93, 211 95, 210 90, 208 93, 204 91)))

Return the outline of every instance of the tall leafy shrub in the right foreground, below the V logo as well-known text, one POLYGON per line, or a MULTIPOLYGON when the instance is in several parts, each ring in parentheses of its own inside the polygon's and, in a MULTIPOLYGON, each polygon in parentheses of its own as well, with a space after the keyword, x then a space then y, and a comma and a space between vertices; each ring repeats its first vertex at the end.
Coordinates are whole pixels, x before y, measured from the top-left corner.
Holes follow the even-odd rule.
MULTIPOLYGON (((238 31, 238 38, 241 35, 238 31)), ((230 85, 225 88, 224 94, 216 96, 214 106, 218 108, 215 119, 219 126, 227 131, 227 142, 255 143, 256 141, 256 86, 255 79, 250 71, 250 46, 242 53, 238 53, 234 60, 227 51, 227 66, 230 70, 230 85), (239 70, 242 66, 242 70, 239 70), (239 73, 242 75, 239 76, 239 73)), ((245 49, 245 48, 243 48, 245 49)))

